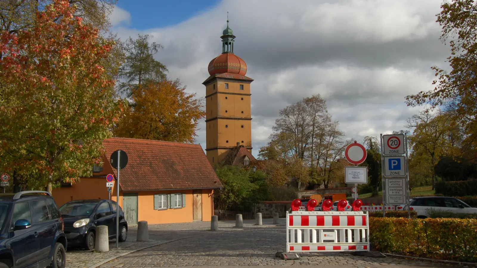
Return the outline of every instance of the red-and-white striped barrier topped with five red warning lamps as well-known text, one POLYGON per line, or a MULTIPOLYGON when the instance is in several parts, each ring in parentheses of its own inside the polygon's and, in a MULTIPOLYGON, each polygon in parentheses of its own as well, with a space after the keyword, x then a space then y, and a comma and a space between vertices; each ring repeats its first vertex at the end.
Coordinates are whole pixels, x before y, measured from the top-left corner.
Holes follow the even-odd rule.
POLYGON ((303 211, 301 202, 294 200, 287 212, 286 252, 369 251, 368 213, 355 203, 353 211, 343 211, 344 206, 329 211, 331 200, 323 201, 323 211, 314 211, 313 203, 303 211))

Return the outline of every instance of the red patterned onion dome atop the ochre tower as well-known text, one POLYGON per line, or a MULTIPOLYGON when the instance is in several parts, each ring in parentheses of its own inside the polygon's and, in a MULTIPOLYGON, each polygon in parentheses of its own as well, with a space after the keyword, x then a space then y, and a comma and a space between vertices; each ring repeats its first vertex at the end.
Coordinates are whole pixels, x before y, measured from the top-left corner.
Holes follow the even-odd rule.
POLYGON ((245 75, 247 63, 234 53, 226 52, 209 62, 208 71, 210 75, 224 72, 245 75))

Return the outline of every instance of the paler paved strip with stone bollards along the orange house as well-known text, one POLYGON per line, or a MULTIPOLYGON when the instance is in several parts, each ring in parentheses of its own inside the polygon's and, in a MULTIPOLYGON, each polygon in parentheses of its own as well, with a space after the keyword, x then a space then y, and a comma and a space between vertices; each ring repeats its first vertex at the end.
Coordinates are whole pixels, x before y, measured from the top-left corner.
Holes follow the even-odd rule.
MULTIPOLYGON (((244 220, 243 228, 235 228, 235 221, 219 221, 219 233, 247 228, 274 227, 272 219, 263 219, 263 226, 255 226, 254 220, 244 220)), ((285 219, 280 219, 280 224, 285 224, 285 219)), ((137 225, 129 226, 127 240, 116 247, 114 240, 109 243, 109 251, 99 253, 81 249, 68 249, 66 253, 66 268, 88 268, 96 263, 113 258, 120 254, 130 252, 142 247, 166 243, 187 237, 203 236, 210 234, 210 221, 195 221, 190 223, 149 225, 149 242, 136 242, 137 225)), ((179 241, 178 241, 179 242, 179 241)), ((184 242, 184 241, 183 241, 184 242)))

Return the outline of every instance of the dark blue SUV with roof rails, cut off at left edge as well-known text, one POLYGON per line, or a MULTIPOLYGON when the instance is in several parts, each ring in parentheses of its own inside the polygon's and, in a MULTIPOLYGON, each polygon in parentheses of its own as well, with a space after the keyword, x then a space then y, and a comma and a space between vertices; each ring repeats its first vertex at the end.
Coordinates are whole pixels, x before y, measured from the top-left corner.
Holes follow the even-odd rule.
POLYGON ((66 243, 50 193, 0 195, 0 268, 64 268, 66 243))

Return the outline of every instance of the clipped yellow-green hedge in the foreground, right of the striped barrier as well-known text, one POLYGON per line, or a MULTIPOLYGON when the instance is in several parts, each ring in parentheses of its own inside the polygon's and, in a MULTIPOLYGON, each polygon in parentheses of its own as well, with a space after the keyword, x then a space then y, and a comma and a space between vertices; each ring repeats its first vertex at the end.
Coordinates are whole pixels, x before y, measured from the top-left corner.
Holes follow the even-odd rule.
POLYGON ((370 217, 373 250, 406 256, 476 262, 477 220, 370 217))

